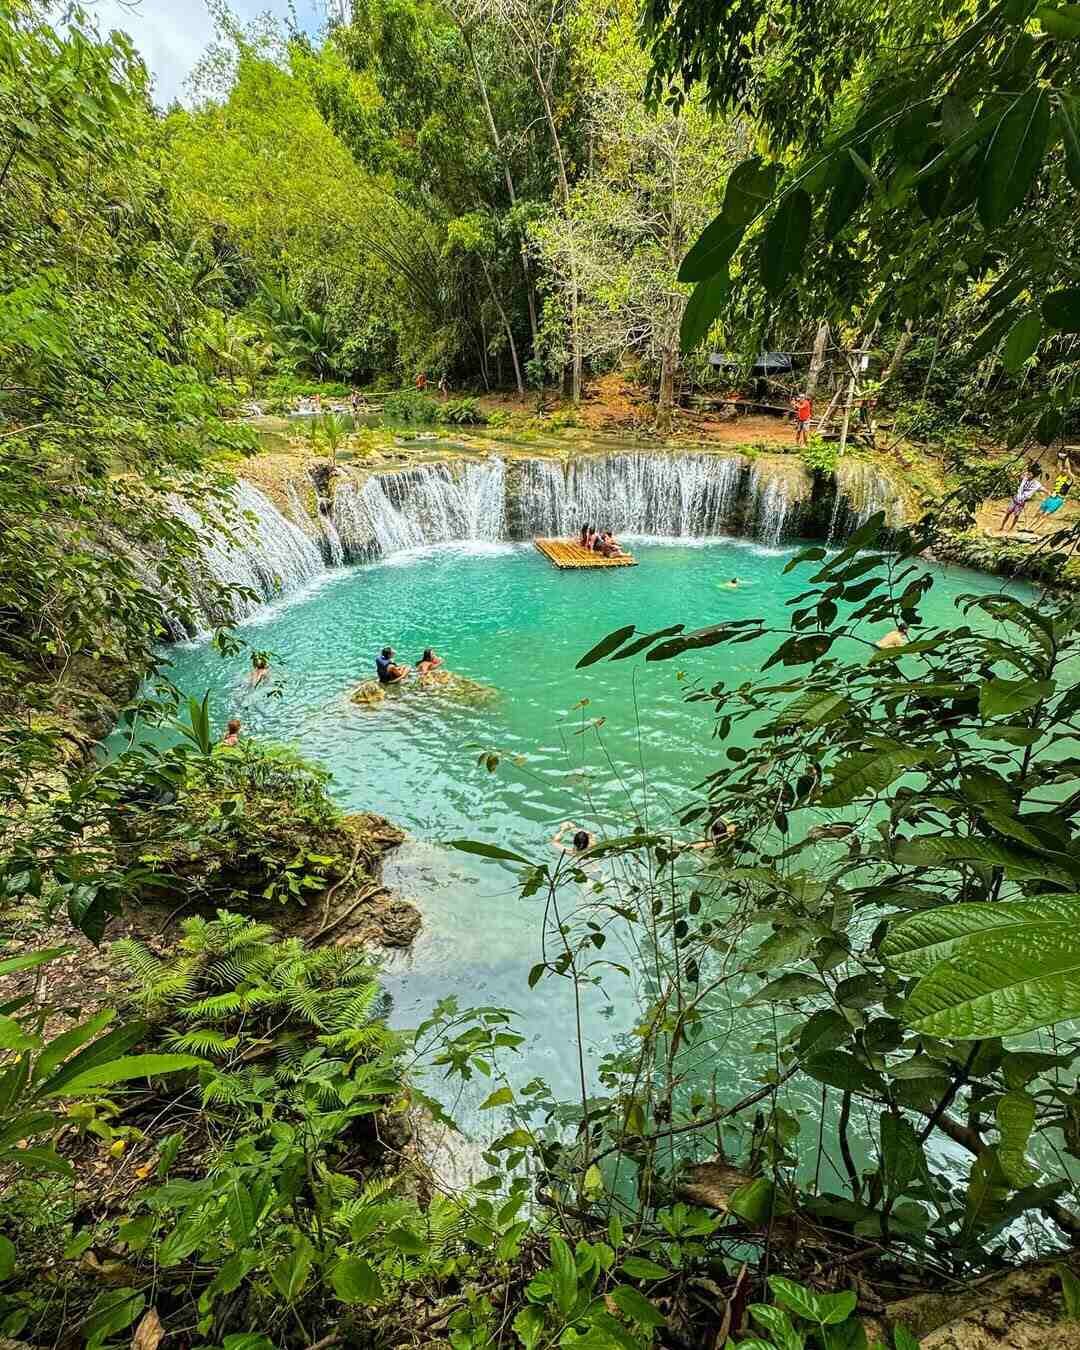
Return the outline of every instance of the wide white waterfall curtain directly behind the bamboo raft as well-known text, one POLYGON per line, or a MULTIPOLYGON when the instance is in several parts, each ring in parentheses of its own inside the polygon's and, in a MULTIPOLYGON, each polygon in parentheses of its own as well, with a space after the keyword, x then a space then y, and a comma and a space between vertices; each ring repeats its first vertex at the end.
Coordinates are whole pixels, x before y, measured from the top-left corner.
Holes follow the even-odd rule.
POLYGON ((742 466, 716 455, 591 455, 566 470, 526 460, 516 532, 572 536, 590 522, 616 535, 721 535, 733 524, 742 466))

